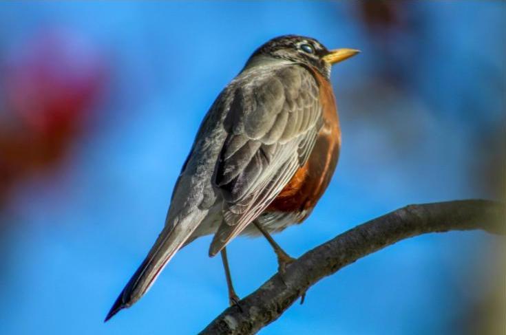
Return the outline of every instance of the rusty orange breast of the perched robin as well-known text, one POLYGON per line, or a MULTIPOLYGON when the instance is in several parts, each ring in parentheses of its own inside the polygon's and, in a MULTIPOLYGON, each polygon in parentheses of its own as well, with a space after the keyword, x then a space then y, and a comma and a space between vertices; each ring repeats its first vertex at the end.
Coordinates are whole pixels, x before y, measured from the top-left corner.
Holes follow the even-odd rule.
POLYGON ((341 147, 341 129, 332 86, 319 74, 317 78, 324 125, 306 164, 297 170, 266 211, 294 212, 313 208, 334 173, 341 147))

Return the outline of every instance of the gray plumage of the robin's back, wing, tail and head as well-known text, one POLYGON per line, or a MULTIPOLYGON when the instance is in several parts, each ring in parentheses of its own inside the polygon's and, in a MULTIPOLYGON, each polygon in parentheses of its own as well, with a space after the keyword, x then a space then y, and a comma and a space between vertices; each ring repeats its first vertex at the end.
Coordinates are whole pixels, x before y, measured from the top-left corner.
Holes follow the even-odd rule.
MULTIPOLYGON (((293 39, 259 48, 209 109, 173 190, 165 227, 106 321, 138 301, 171 257, 194 239, 215 233, 209 249, 215 255, 233 237, 254 232, 248 228, 254 219, 267 230, 280 229, 269 226, 276 220, 297 221, 285 213, 262 213, 313 150, 323 120, 308 65, 324 76, 330 65, 316 56, 294 62, 297 49, 283 44, 293 39)), ((317 52, 328 52, 313 39, 297 37, 297 43, 308 41, 317 52)))

